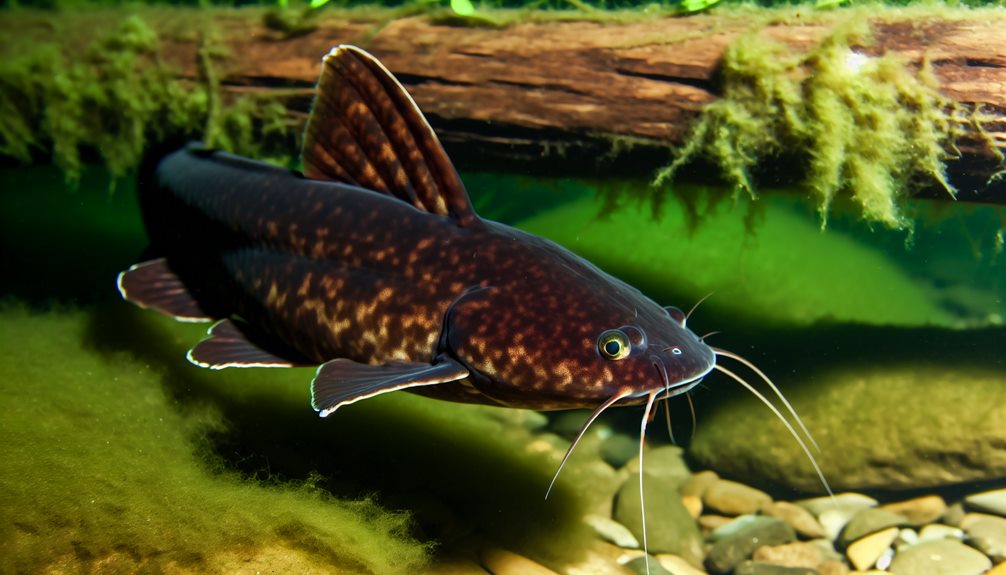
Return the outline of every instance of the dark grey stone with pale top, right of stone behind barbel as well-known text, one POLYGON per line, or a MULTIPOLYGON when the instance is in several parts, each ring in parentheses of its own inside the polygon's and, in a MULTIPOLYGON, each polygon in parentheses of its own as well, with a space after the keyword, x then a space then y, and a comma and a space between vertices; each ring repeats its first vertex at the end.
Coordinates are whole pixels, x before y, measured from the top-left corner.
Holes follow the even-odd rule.
POLYGON ((729 573, 766 545, 783 545, 797 535, 786 522, 774 517, 740 516, 712 533, 712 548, 705 565, 712 573, 729 573))

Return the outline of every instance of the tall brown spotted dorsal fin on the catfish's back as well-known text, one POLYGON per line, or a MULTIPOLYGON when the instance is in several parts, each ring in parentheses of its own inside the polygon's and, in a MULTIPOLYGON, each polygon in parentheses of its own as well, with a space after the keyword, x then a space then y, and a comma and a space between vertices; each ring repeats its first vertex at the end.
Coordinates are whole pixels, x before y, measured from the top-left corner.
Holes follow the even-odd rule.
POLYGON ((476 219, 415 102, 377 58, 355 46, 336 46, 325 56, 302 160, 309 178, 395 196, 462 225, 476 219))

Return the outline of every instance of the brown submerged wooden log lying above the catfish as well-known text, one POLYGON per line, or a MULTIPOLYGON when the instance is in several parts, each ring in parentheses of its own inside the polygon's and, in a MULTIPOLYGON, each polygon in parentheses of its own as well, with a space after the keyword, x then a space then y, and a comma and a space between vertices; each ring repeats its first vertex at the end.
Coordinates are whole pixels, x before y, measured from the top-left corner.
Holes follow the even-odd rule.
POLYGON ((668 163, 703 107, 721 95, 718 66, 742 34, 799 53, 850 18, 865 19, 872 39, 857 51, 896 53, 914 68, 927 62, 944 95, 981 113, 980 129, 963 126, 961 157, 948 171, 963 199, 1006 203, 1006 182, 990 180, 1003 170, 1006 149, 1006 11, 805 10, 500 27, 332 11, 289 37, 267 27, 258 10, 145 19, 161 35, 164 57, 194 81, 200 34, 191 33, 192 20, 210 20, 214 41, 229 54, 219 72, 225 92, 277 94, 301 120, 321 57, 334 44, 355 43, 412 92, 463 169, 645 179, 668 163))

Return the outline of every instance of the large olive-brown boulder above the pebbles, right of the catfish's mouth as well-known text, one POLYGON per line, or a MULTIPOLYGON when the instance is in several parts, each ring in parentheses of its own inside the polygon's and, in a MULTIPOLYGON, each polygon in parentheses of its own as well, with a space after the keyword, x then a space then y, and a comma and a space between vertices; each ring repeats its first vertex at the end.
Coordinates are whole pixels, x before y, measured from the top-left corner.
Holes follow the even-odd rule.
MULTIPOLYGON (((998 333, 985 337, 1006 338, 998 333)), ((927 342, 936 337, 946 350, 976 345, 966 332, 905 331, 897 347, 932 349, 927 342)), ((990 355, 947 351, 930 362, 857 363, 843 354, 839 365, 769 375, 817 437, 815 456, 832 489, 932 489, 1006 476, 1006 370, 990 355), (960 393, 962 382, 967 394, 960 393)), ((726 389, 717 393, 729 396, 703 409, 689 451, 702 466, 754 485, 823 490, 807 455, 764 406, 726 389)))

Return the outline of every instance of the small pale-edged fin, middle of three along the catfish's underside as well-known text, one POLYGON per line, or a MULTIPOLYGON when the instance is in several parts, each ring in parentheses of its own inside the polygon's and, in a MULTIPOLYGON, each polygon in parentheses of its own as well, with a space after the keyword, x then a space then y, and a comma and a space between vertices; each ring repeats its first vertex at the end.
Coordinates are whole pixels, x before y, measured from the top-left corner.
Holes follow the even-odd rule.
POLYGON ((299 367, 305 363, 264 349, 232 320, 220 320, 209 329, 207 338, 189 350, 190 362, 209 369, 228 367, 299 367))

